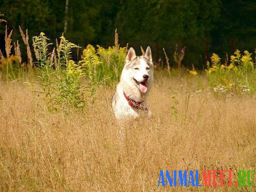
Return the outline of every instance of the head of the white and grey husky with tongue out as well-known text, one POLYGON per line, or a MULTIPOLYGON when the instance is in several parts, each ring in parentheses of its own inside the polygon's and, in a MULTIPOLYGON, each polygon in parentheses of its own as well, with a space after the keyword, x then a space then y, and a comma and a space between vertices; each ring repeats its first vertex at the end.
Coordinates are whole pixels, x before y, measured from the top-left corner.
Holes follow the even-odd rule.
POLYGON ((153 81, 153 64, 150 47, 147 47, 145 54, 137 57, 135 50, 131 47, 125 58, 123 76, 129 78, 141 93, 146 93, 153 81))

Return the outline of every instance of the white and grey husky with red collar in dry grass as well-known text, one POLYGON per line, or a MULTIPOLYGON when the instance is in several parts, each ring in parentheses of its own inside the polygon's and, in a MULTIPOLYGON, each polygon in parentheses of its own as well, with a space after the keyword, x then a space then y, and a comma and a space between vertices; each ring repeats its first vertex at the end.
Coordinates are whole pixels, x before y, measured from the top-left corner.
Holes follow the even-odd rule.
POLYGON ((153 64, 150 47, 144 55, 136 56, 131 47, 125 58, 120 82, 113 96, 112 108, 117 121, 130 120, 140 115, 150 117, 146 97, 153 82, 153 64))

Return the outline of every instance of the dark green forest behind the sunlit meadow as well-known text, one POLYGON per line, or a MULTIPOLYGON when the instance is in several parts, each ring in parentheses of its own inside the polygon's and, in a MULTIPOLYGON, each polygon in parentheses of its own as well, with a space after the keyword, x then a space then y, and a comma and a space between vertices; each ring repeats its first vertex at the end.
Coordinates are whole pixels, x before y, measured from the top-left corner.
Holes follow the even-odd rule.
MULTIPOLYGON (((253 52, 255 10, 253 0, 2 0, 0 3, 9 30, 14 29, 13 38, 20 41, 19 25, 29 30, 30 37, 44 31, 54 40, 65 31, 65 37, 81 47, 88 43, 108 47, 113 45, 117 28, 121 46, 129 43, 139 51, 140 45, 149 45, 155 61, 164 58, 162 47, 172 55, 176 43, 179 47, 186 46, 183 65, 194 63, 199 69, 205 67, 213 52, 222 57, 236 49, 253 52)), ((0 35, 4 39, 5 25, 0 26, 0 35)), ((4 42, 0 44, 3 49, 4 42)), ((170 59, 174 65, 173 58, 170 59)))

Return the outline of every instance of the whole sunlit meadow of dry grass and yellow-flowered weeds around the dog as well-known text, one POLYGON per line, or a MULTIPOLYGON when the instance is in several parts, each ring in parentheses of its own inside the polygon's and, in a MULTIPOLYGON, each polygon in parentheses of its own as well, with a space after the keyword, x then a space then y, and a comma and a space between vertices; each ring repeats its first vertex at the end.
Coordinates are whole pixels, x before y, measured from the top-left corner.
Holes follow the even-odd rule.
POLYGON ((0 55, 1 191, 255 191, 157 186, 160 170, 234 170, 237 181, 238 170, 256 168, 253 54, 212 54, 206 71, 187 71, 184 48, 174 53, 178 69, 164 50, 167 69, 155 65, 148 97, 152 118, 129 123, 120 142, 111 99, 127 47, 117 32, 115 46, 88 45, 75 62, 81 47, 65 37, 53 45, 40 33, 32 49, 20 30, 27 60, 19 42, 14 54, 7 29, 0 55))

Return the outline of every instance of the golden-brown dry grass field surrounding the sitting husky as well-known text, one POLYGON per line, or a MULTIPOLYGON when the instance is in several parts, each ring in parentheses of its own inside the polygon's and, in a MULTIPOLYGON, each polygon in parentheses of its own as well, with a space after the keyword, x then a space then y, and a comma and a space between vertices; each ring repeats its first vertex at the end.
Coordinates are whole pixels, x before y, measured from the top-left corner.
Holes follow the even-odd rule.
POLYGON ((101 87, 85 112, 50 113, 26 85, 0 82, 0 190, 255 191, 157 187, 160 170, 256 167, 255 96, 216 97, 190 78, 156 74, 152 118, 126 127, 124 145, 112 87, 101 87))

